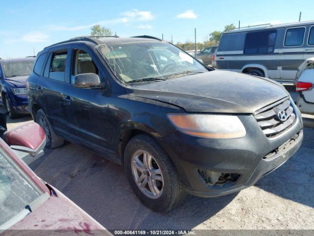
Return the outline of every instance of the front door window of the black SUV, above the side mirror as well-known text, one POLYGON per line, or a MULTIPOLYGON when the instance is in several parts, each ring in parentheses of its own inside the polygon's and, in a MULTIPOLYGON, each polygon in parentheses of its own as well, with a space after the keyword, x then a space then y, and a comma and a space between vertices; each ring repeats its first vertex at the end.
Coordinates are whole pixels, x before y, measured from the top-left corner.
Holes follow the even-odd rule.
POLYGON ((91 56, 83 50, 77 49, 73 54, 73 68, 71 74, 71 83, 78 74, 94 73, 99 75, 99 70, 91 56))

